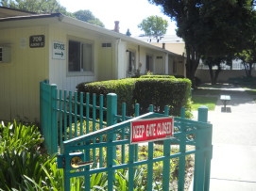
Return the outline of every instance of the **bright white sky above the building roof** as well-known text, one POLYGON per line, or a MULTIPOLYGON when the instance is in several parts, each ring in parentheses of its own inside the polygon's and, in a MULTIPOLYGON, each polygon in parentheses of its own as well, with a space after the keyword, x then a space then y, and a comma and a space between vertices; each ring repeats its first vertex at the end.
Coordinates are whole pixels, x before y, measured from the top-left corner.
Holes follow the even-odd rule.
POLYGON ((151 5, 147 0, 59 0, 60 5, 69 12, 90 10, 105 28, 112 30, 114 21, 119 21, 119 32, 126 34, 127 30, 132 37, 144 34, 138 28, 144 19, 158 15, 168 21, 166 35, 175 35, 176 24, 165 16, 160 7, 151 5))

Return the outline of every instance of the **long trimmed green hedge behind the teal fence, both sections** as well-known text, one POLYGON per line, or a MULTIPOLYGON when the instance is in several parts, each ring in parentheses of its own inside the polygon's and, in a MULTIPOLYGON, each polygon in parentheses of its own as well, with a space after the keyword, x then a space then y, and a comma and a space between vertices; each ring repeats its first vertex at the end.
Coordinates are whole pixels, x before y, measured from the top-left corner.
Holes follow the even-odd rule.
POLYGON ((140 114, 148 112, 149 104, 153 104, 155 112, 162 113, 164 106, 168 105, 170 115, 179 116, 180 108, 189 103, 191 81, 170 75, 147 75, 140 78, 81 83, 77 85, 77 91, 97 95, 116 93, 119 114, 122 103, 127 103, 128 116, 134 114, 134 103, 139 103, 140 114))

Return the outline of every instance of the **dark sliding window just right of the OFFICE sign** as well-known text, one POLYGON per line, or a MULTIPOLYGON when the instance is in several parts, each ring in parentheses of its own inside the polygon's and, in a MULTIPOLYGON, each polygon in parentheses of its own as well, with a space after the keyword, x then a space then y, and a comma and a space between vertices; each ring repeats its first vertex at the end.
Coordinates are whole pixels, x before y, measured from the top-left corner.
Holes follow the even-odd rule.
POLYGON ((68 72, 93 72, 93 44, 69 40, 68 72))

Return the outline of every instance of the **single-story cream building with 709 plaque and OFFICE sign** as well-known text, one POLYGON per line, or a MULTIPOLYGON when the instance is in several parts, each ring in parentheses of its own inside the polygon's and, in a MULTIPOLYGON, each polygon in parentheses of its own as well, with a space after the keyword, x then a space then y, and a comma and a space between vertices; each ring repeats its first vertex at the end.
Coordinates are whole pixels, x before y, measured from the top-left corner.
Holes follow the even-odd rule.
POLYGON ((126 78, 138 69, 142 74, 183 75, 184 60, 145 41, 60 13, 0 7, 0 119, 40 120, 43 80, 76 91, 81 82, 126 78))

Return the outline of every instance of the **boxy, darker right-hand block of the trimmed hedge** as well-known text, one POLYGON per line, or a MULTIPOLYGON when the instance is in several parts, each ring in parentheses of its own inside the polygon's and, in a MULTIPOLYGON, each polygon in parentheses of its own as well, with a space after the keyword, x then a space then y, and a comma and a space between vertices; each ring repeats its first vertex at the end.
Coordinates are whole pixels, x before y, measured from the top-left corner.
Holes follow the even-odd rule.
POLYGON ((141 112, 146 113, 149 104, 155 112, 162 113, 164 106, 170 107, 170 115, 179 116, 180 108, 189 102, 191 82, 188 79, 150 78, 136 82, 134 101, 140 103, 141 112))

